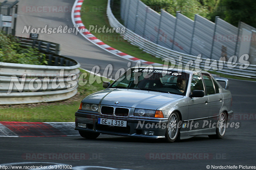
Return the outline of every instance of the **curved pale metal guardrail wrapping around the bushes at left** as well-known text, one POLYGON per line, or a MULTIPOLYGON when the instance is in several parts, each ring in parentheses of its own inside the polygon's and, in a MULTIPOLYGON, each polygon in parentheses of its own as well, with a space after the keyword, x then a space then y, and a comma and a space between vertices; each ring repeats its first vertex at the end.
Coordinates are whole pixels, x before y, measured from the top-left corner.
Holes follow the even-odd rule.
POLYGON ((47 66, 0 62, 0 105, 52 102, 73 97, 77 93, 80 63, 56 55, 60 49, 58 44, 48 42, 46 46, 49 48, 44 50, 32 41, 20 40, 21 46, 41 47, 40 51, 55 54, 44 52, 47 66))

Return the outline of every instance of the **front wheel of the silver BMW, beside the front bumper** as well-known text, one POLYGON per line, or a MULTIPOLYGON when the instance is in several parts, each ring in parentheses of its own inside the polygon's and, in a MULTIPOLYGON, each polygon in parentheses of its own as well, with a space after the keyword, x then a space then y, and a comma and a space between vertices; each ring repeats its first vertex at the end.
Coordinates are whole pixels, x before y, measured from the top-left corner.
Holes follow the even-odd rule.
POLYGON ((174 141, 180 140, 180 127, 178 127, 178 122, 180 121, 180 116, 177 112, 173 112, 170 117, 166 127, 165 140, 166 142, 173 143, 174 141))

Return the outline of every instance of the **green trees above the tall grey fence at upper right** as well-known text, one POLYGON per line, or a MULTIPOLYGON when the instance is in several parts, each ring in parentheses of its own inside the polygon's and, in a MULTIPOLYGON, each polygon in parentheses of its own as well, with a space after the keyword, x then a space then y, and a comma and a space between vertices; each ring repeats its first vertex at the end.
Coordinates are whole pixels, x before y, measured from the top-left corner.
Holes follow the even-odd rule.
POLYGON ((199 14, 214 22, 215 17, 238 26, 242 21, 256 27, 256 0, 141 0, 157 12, 164 9, 172 15, 176 11, 194 19, 199 14))

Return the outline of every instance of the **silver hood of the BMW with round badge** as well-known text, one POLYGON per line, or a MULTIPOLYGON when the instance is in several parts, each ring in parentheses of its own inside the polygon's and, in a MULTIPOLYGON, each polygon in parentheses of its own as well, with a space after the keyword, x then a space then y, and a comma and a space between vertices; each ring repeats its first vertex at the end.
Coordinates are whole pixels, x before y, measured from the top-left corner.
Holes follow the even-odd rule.
POLYGON ((156 110, 165 103, 182 97, 181 95, 162 92, 109 88, 87 96, 83 102, 156 110), (115 102, 119 103, 115 104, 115 102))

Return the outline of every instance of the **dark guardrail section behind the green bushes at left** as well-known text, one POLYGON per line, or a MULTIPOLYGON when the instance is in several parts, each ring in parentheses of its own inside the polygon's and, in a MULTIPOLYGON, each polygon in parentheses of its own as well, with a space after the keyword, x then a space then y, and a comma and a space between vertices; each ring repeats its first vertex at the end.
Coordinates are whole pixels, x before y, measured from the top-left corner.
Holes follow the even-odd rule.
POLYGON ((49 42, 49 41, 36 40, 33 38, 24 38, 24 37, 16 37, 16 38, 18 39, 17 41, 21 44, 21 46, 36 47, 40 51, 60 55, 60 44, 49 42))

